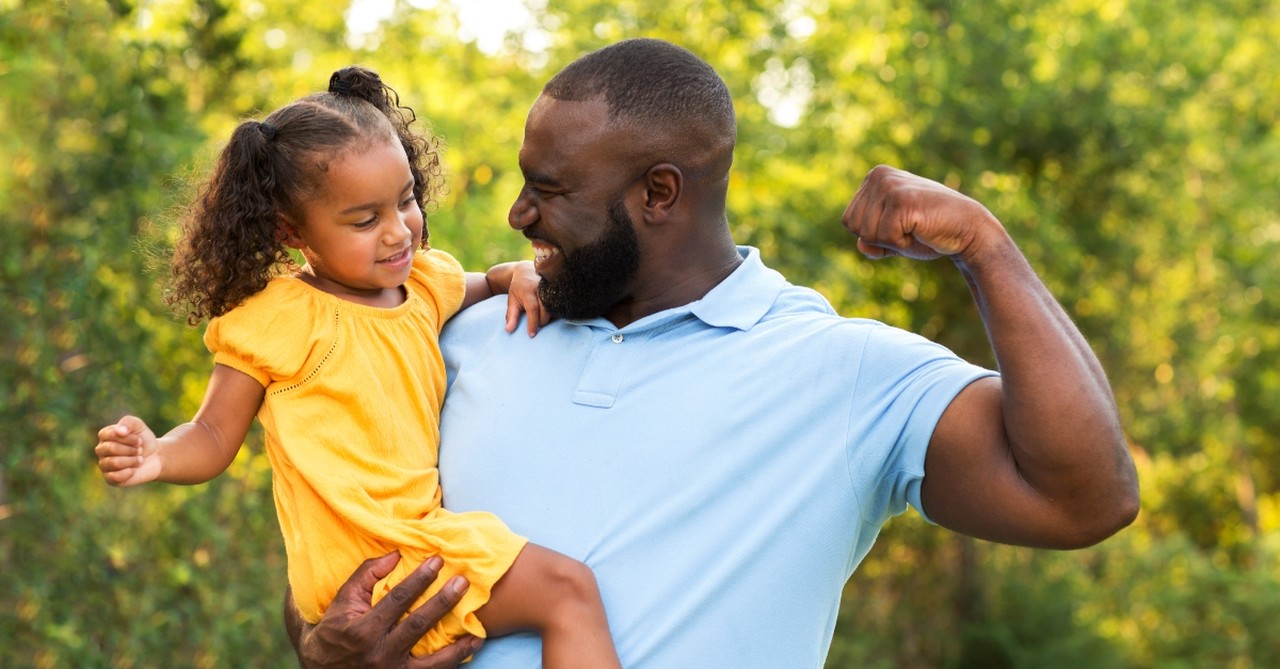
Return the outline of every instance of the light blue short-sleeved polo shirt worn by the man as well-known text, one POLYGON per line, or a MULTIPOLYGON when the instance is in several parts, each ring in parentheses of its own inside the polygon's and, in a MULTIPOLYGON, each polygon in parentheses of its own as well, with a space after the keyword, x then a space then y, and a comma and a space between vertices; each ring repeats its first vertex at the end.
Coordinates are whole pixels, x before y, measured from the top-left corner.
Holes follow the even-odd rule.
MULTIPOLYGON (((444 505, 590 565, 627 668, 822 666, 845 582, 920 508, 938 417, 993 374, 740 252, 703 299, 622 329, 507 334, 499 297, 442 338, 444 505)), ((513 634, 471 666, 539 660, 513 634)))

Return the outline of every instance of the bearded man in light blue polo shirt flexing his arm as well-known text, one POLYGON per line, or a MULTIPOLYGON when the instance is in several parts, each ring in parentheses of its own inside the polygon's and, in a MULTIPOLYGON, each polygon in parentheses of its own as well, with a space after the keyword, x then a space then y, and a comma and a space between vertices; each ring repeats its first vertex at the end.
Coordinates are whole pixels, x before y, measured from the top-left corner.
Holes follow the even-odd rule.
MULTIPOLYGON (((1106 376, 986 207, 877 168, 844 224, 872 258, 948 256, 998 375, 841 319, 735 246, 735 138, 723 82, 667 42, 620 42, 547 84, 509 223, 558 320, 511 336, 489 302, 447 329, 447 507, 494 512, 586 562, 623 665, 653 668, 820 666, 845 581, 908 504, 1042 547, 1133 521, 1137 477, 1106 376)), ((404 663, 404 640, 449 595, 396 626, 406 605, 370 610, 365 595, 393 562, 353 576, 303 637, 307 664, 404 663)), ((538 652, 535 636, 493 638, 472 666, 535 666, 538 652)))

